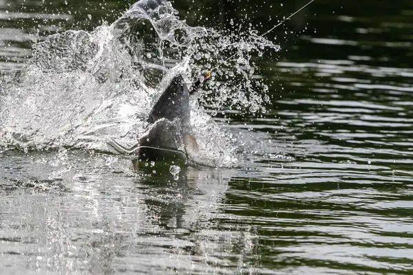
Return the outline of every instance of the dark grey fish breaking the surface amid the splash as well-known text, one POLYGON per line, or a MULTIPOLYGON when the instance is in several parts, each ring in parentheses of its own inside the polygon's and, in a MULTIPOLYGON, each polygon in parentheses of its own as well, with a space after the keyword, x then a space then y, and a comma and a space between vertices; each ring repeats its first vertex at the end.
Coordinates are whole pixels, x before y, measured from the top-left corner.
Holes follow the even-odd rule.
POLYGON ((198 151, 198 144, 190 131, 189 96, 198 91, 211 78, 206 72, 191 87, 182 75, 172 78, 149 112, 149 131, 131 148, 115 140, 107 142, 118 153, 132 158, 134 166, 148 162, 187 164, 188 152, 198 151))

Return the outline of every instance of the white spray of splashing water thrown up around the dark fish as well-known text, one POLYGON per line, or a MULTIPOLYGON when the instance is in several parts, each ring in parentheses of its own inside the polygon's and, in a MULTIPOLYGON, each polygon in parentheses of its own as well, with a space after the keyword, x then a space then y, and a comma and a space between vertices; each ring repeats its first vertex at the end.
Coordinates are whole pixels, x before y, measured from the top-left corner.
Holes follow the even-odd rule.
POLYGON ((132 145, 173 76, 191 81, 218 65, 212 84, 191 98, 200 153, 190 157, 233 165, 230 135, 202 104, 264 111, 266 86, 255 76, 253 56, 279 47, 255 30, 224 35, 190 27, 177 14, 168 1, 141 0, 112 25, 55 34, 34 45, 23 69, 0 74, 0 146, 110 151, 108 137, 132 145))

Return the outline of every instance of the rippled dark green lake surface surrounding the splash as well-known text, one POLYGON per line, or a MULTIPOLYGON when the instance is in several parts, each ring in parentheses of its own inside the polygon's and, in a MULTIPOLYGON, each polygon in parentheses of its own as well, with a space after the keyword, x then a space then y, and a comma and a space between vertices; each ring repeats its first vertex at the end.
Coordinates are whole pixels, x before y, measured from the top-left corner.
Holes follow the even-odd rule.
MULTIPOLYGON (((90 32, 132 4, 68 2, 0 0, 0 68, 21 69, 35 42, 90 32)), ((250 2, 173 8, 191 26, 263 34, 306 4, 250 2)), ((412 28, 412 1, 315 0, 266 35, 279 52, 253 56, 264 113, 204 109, 231 144, 223 159, 237 162, 211 157, 178 179, 90 142, 13 148, 0 135, 0 274, 412 274, 412 28)))

